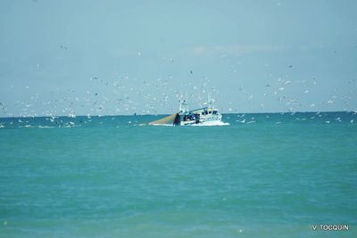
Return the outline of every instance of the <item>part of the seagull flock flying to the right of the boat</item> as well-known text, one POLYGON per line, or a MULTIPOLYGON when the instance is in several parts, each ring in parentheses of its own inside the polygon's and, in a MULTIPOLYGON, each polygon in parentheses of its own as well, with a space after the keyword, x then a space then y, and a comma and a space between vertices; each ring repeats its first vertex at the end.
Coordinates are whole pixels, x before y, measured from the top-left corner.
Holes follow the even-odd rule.
MULTIPOLYGON (((228 55, 221 55, 221 57, 228 63, 230 69, 233 73, 237 72, 237 67, 242 63, 241 61, 233 61, 228 58, 228 55)), ((270 67, 269 64, 265 64, 265 67, 270 67)), ((352 111, 351 102, 356 100, 356 79, 351 79, 345 83, 341 83, 341 86, 348 88, 350 91, 344 95, 340 95, 341 90, 334 88, 330 93, 328 98, 324 101, 308 103, 308 99, 312 98, 309 94, 321 94, 320 87, 324 87, 323 84, 319 86, 318 77, 311 76, 310 78, 305 79, 296 79, 291 75, 294 75, 292 72, 294 65, 290 64, 286 67, 286 76, 284 77, 274 77, 272 73, 267 75, 266 80, 269 81, 263 86, 256 84, 256 87, 253 90, 245 88, 245 86, 238 86, 237 92, 241 95, 244 95, 242 100, 235 100, 234 102, 229 102, 228 105, 235 105, 236 107, 229 107, 228 111, 244 111, 242 108, 239 108, 240 104, 249 104, 253 105, 253 108, 260 107, 261 111, 269 111, 266 108, 266 103, 269 102, 269 105, 275 104, 278 105, 279 111, 286 111, 294 113, 295 111, 306 111, 306 107, 309 106, 311 110, 308 111, 328 111, 328 108, 331 108, 332 105, 338 104, 338 107, 341 107, 341 103, 344 104, 344 107, 341 108, 341 111, 352 111), (264 89, 261 90, 261 88, 264 89), (257 88, 259 90, 257 90, 257 88), (257 92, 263 92, 263 94, 257 94, 257 92), (306 94, 306 96, 304 96, 306 94), (239 103, 245 101, 245 103, 239 103), (274 103, 275 102, 275 103, 274 103), (308 103, 308 104, 307 104, 308 103)), ((325 86, 326 87, 326 86, 325 86)), ((324 92, 326 93, 326 92, 324 92)), ((316 96, 315 96, 316 97, 316 96)), ((335 106, 336 108, 336 106, 335 106)))

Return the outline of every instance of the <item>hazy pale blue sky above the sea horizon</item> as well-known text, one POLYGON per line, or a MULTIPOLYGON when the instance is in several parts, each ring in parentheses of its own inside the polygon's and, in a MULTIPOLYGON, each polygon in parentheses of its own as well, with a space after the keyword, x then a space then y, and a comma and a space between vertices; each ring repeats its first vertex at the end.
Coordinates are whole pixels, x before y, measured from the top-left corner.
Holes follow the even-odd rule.
POLYGON ((0 1, 0 116, 357 110, 357 1, 0 1), (91 79, 92 78, 92 79, 91 79))

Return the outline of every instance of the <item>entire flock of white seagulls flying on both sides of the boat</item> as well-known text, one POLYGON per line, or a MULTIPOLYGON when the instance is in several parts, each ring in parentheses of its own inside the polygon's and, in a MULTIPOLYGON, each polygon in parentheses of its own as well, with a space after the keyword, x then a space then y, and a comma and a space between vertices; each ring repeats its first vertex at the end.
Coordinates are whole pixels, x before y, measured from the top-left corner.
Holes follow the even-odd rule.
MULTIPOLYGON (((67 50, 66 45, 60 46, 62 50, 67 50)), ((142 53, 138 52, 137 56, 142 53)), ((242 62, 231 62, 227 55, 221 55, 221 58, 228 63, 233 73, 237 73, 237 67, 242 62)), ((175 62, 170 59, 170 62, 175 62)), ((293 65, 287 66, 291 70, 293 65)), ((220 97, 220 91, 212 86, 212 81, 207 77, 201 77, 197 82, 194 76, 194 70, 187 70, 187 77, 192 78, 179 86, 171 86, 171 82, 175 81, 172 75, 168 74, 165 78, 156 79, 139 79, 130 78, 129 75, 123 75, 115 79, 105 79, 100 77, 88 78, 88 88, 81 91, 74 89, 69 90, 54 90, 51 92, 50 100, 43 101, 41 94, 33 94, 26 102, 17 101, 14 105, 5 105, 0 102, 0 117, 14 117, 12 108, 16 111, 21 111, 20 117, 46 117, 47 120, 54 122, 59 115, 65 115, 69 118, 76 118, 79 114, 83 115, 83 111, 87 111, 87 118, 91 115, 102 116, 103 114, 118 115, 118 114, 157 114, 162 108, 170 108, 171 111, 177 111, 177 100, 186 99, 191 103, 198 103, 203 106, 203 101, 206 101, 207 94, 213 94, 215 97, 220 97), (194 83, 195 78, 195 83, 194 83), (180 87, 181 90, 176 89, 180 87), (186 94, 185 94, 186 93, 186 94), (38 112, 38 109, 42 109, 38 112)), ((294 115, 295 111, 301 111, 306 100, 301 102, 299 96, 303 94, 311 94, 311 91, 318 90, 317 77, 312 77, 311 80, 295 80, 286 75, 285 78, 271 79, 272 74, 267 77, 269 82, 262 84, 262 95, 256 95, 249 91, 245 86, 239 86, 237 93, 243 95, 247 103, 256 104, 265 109, 265 102, 276 101, 280 108, 286 108, 286 112, 294 115), (296 93, 296 91, 299 91, 296 93), (263 98, 263 100, 262 100, 263 98), (260 102, 261 101, 261 102, 260 102)), ((347 82, 350 88, 353 89, 355 79, 347 82), (351 86, 353 85, 353 86, 351 86)), ((13 89, 14 86, 11 86, 13 89)), ((22 90, 29 90, 29 86, 23 86, 22 90)), ((318 111, 316 117, 321 117, 318 108, 321 105, 334 104, 336 101, 344 102, 344 111, 349 111, 350 103, 355 100, 355 92, 351 90, 344 96, 338 96, 336 89, 325 102, 310 103, 311 111, 318 111), (315 110, 314 110, 315 109, 315 110)), ((44 97, 45 98, 45 97, 44 97)), ((48 98, 48 96, 46 96, 48 98)), ((239 111, 235 108, 237 104, 243 104, 241 101, 228 102, 229 112, 239 111)), ((353 111, 353 115, 357 112, 353 111)), ((267 116, 269 118, 269 116, 267 116)), ((314 119, 311 117, 310 119, 314 119)), ((298 119, 298 118, 297 118, 298 119)), ((19 122, 21 119, 19 119, 19 122)), ((251 117, 245 118, 245 114, 237 116, 237 122, 242 124, 255 123, 256 119, 251 117)), ((342 121, 341 118, 336 118, 336 121, 342 121)), ((330 123, 330 120, 326 120, 330 123)), ((353 119, 350 120, 353 123, 353 119)), ((281 122, 277 122, 279 124, 281 122)), ((71 124, 70 124, 71 126, 71 124)))

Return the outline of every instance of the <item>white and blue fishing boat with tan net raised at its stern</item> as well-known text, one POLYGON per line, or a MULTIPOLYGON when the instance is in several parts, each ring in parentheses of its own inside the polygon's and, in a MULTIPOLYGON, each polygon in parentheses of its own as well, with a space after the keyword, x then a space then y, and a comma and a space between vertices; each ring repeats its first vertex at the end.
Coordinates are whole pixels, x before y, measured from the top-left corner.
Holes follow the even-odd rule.
POLYGON ((185 100, 179 101, 179 112, 169 117, 149 122, 149 125, 173 125, 173 126, 220 126, 228 125, 222 122, 219 110, 213 107, 209 101, 206 107, 189 110, 185 100))

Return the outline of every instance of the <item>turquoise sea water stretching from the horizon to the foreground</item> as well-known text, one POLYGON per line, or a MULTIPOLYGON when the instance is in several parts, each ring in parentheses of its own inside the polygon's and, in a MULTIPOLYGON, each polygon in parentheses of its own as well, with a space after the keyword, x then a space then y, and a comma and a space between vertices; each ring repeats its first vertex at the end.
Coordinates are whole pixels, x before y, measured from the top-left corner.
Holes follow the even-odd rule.
POLYGON ((357 237, 356 113, 154 119, 0 119, 0 237, 357 237))

